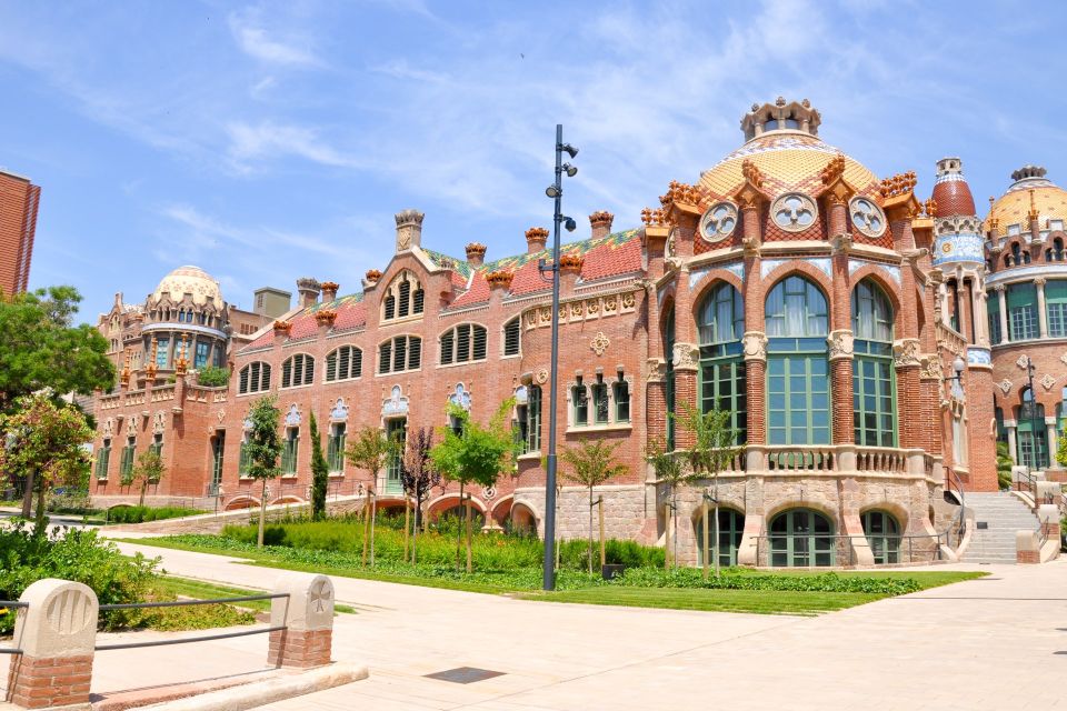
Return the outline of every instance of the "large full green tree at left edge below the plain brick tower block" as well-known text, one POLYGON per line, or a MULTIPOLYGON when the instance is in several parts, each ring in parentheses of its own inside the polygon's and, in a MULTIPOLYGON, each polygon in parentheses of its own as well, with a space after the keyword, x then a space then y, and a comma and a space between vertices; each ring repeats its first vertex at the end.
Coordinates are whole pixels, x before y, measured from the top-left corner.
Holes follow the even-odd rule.
POLYGON ((42 388, 88 395, 114 384, 107 340, 72 324, 80 301, 73 287, 0 294, 0 412, 42 388))

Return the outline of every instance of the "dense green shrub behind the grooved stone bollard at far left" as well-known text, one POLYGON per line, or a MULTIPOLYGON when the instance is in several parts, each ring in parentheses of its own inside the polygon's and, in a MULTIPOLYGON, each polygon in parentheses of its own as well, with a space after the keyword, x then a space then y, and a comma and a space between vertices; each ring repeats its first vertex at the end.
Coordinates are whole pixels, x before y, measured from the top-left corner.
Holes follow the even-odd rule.
MULTIPOLYGON (((141 553, 122 555, 114 543, 101 541, 96 531, 57 529, 48 535, 33 535, 21 520, 0 531, 0 599, 18 600, 33 582, 61 578, 81 582, 97 593, 100 604, 141 602, 156 579, 159 559, 141 553)), ((101 613, 104 629, 136 625, 140 611, 101 613)), ((14 611, 0 614, 0 632, 10 633, 14 611)))

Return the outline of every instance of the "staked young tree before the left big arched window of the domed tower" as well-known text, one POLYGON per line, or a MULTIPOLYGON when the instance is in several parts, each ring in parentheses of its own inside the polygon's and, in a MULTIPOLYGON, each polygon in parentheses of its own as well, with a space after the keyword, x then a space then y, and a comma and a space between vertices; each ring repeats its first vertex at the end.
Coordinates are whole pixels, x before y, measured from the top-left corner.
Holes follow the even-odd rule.
MULTIPOLYGON (((728 410, 700 412, 688 402, 682 403, 681 427, 692 433, 692 447, 685 450, 692 479, 711 479, 711 502, 715 504, 715 532, 711 554, 715 557, 715 577, 719 577, 719 474, 727 471, 745 451, 738 444, 738 431, 730 424, 732 413, 728 410)), ((708 503, 701 505, 704 527, 704 575, 708 574, 708 503)))

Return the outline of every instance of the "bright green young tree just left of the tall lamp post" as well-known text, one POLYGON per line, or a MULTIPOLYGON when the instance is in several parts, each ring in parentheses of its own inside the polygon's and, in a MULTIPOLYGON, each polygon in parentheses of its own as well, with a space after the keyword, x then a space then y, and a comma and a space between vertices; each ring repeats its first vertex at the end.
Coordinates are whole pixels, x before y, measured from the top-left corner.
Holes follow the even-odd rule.
MULTIPOLYGON (((442 428, 443 439, 430 450, 430 460, 437 471, 459 482, 459 501, 465 503, 463 489, 478 484, 493 485, 500 472, 511 465, 521 442, 511 431, 510 414, 515 399, 505 400, 487 425, 470 419, 470 413, 458 405, 449 405, 448 414, 457 427, 442 428)), ((456 548, 456 569, 459 570, 459 547, 456 548)), ((471 552, 470 505, 467 505, 467 572, 473 570, 471 552)))

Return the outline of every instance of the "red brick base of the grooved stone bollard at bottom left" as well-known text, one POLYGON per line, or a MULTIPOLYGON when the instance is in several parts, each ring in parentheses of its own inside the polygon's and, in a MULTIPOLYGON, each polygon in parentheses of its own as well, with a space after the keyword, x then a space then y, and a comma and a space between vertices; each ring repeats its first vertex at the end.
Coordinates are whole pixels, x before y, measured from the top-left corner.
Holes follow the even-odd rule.
POLYGON ((89 703, 92 654, 39 659, 18 655, 8 669, 9 700, 23 709, 89 703))

